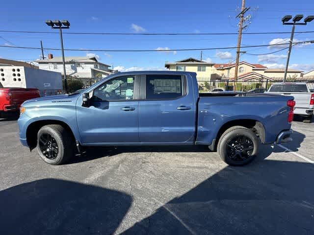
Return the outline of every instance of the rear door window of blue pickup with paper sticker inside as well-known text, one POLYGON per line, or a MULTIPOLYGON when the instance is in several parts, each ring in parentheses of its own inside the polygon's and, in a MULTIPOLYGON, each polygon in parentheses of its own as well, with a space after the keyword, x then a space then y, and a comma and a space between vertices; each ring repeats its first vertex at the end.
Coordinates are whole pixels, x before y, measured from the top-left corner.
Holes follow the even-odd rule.
POLYGON ((175 99, 183 96, 181 75, 147 75, 146 99, 175 99))

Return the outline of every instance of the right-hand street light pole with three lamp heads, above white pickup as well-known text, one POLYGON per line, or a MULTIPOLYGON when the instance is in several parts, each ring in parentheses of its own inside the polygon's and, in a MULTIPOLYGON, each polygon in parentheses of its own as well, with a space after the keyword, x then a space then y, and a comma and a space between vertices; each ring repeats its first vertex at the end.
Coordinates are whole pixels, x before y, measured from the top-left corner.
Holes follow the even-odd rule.
POLYGON ((306 25, 308 22, 311 22, 314 20, 314 16, 308 16, 304 19, 303 23, 299 23, 299 21, 302 18, 303 18, 303 15, 296 15, 295 17, 293 17, 293 19, 292 19, 292 16, 287 15, 287 16, 284 16, 283 19, 281 20, 282 23, 285 25, 292 25, 291 36, 290 36, 290 41, 289 41, 289 50, 288 50, 288 55, 287 55, 287 63, 286 63, 283 82, 286 82, 286 80, 287 80, 287 72, 288 72, 288 66, 289 66, 289 60, 290 60, 290 53, 291 53, 292 44, 293 44, 295 25, 306 25), (292 22, 288 22, 291 19, 292 19, 292 22))

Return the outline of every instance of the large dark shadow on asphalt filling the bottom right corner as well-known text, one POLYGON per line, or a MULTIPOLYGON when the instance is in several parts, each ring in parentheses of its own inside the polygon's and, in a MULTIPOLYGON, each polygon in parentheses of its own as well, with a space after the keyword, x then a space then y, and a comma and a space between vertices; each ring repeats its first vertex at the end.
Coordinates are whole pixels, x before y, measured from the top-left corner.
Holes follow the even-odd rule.
POLYGON ((313 164, 228 166, 124 234, 314 234, 313 164))

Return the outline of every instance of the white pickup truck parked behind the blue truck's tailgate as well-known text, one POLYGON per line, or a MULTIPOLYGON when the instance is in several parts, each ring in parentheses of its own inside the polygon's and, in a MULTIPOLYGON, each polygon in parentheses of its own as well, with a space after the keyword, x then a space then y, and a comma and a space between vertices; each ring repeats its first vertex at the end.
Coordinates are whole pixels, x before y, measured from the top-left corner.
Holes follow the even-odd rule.
POLYGON ((294 114, 304 117, 303 122, 311 122, 314 110, 314 93, 311 93, 305 82, 274 83, 265 93, 294 96, 294 114))

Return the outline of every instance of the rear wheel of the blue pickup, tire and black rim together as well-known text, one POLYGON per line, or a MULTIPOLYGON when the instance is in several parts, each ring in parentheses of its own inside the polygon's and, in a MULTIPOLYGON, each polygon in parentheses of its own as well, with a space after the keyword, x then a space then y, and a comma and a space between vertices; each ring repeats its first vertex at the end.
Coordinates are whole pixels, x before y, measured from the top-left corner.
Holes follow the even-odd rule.
POLYGON ((255 159, 259 146, 260 139, 253 131, 243 126, 233 126, 227 129, 220 137, 217 151, 225 163, 229 165, 245 165, 255 159))

